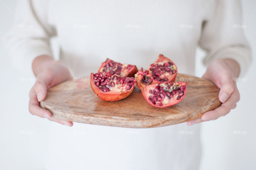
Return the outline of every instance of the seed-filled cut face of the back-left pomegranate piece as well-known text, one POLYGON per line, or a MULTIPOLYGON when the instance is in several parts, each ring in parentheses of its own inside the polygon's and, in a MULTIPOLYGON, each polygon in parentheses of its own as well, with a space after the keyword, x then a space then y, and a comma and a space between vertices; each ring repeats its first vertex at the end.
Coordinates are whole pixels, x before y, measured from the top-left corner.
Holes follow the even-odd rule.
POLYGON ((130 64, 121 64, 118 62, 115 62, 113 60, 107 60, 106 65, 101 70, 103 74, 109 73, 111 75, 126 75, 130 73, 130 70, 133 69, 133 65, 130 64))

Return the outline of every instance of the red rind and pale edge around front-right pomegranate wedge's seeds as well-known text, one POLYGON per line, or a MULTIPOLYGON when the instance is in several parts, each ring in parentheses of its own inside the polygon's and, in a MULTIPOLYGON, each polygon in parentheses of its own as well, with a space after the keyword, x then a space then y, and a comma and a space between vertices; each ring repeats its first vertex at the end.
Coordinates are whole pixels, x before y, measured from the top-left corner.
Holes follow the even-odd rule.
MULTIPOLYGON (((186 85, 188 84, 187 82, 177 82, 178 84, 180 84, 181 86, 185 86, 184 88, 184 95, 179 99, 179 100, 176 100, 175 97, 171 98, 171 100, 169 100, 169 102, 167 104, 164 104, 162 106, 159 106, 159 105, 156 105, 156 104, 153 104, 150 100, 149 100, 149 90, 151 89, 154 89, 156 86, 158 86, 158 84, 152 84, 152 85, 149 85, 149 86, 144 86, 142 87, 142 95, 143 97, 145 98, 145 100, 147 101, 147 103, 149 103, 150 105, 154 106, 154 107, 158 107, 158 108, 165 108, 165 107, 169 107, 169 106, 172 106, 172 105, 175 105, 179 102, 181 102, 185 95, 186 95, 186 85)), ((169 84, 169 83, 162 83, 163 84, 169 84)), ((176 83, 175 83, 176 84, 176 83)), ((161 86, 161 84, 159 84, 159 86, 161 86)), ((159 92, 159 94, 161 93, 162 91, 159 92)), ((178 95, 178 94, 177 94, 178 95)), ((177 96, 175 95, 175 96, 177 96)))

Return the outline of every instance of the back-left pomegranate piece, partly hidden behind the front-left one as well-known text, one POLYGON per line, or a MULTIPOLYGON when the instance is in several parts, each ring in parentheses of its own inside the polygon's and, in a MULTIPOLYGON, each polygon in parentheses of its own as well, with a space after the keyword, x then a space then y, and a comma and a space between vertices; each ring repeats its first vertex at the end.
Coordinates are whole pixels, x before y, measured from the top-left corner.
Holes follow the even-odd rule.
POLYGON ((138 69, 135 65, 130 64, 121 64, 110 60, 107 58, 105 62, 102 63, 101 67, 98 70, 98 73, 105 75, 109 73, 111 75, 121 75, 126 77, 134 77, 134 74, 138 72, 138 69))

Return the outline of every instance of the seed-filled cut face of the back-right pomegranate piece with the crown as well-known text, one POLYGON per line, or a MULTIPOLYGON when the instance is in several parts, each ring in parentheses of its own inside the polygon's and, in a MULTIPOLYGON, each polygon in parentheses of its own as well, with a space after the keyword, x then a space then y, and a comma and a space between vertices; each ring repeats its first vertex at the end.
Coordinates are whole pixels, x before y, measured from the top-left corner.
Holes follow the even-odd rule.
POLYGON ((157 64, 151 64, 149 67, 149 73, 152 74, 153 79, 161 82, 168 81, 168 77, 176 72, 177 68, 170 61, 157 62, 157 64))

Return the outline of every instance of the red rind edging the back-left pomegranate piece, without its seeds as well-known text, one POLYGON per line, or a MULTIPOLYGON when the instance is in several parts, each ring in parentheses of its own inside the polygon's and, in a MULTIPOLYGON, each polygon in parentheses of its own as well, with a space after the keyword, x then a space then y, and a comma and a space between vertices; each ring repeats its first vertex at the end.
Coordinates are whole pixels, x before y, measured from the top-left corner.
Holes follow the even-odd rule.
MULTIPOLYGON (((99 67, 98 73, 101 73, 103 71, 104 67, 109 62, 115 62, 115 61, 110 60, 109 58, 107 58, 107 60, 101 64, 101 67, 99 67)), ((115 63, 120 64, 122 66, 128 65, 128 64, 121 64, 119 62, 115 62, 115 63)), ((121 74, 119 76, 134 77, 134 75, 138 72, 138 69, 137 69, 137 67, 135 65, 131 65, 131 64, 129 64, 129 65, 132 66, 131 69, 129 69, 128 71, 125 71, 125 73, 124 73, 124 68, 121 66, 122 70, 121 70, 121 74)), ((113 70, 113 71, 115 71, 115 70, 113 70)))

